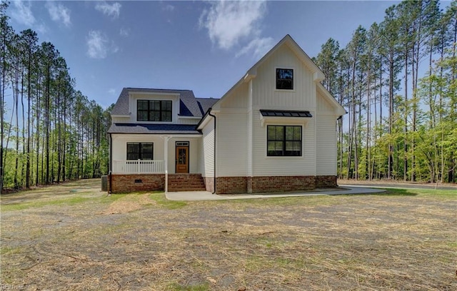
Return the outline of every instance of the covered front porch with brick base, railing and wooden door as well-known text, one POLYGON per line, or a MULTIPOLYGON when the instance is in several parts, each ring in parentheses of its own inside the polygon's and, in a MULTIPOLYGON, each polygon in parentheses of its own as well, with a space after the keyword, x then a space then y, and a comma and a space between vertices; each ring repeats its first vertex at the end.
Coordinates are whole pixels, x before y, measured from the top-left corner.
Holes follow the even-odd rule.
MULTIPOLYGON (((201 180, 201 133, 111 133, 111 192, 179 189, 201 180), (169 182, 169 176, 174 178, 169 182), (195 177, 194 175, 197 175, 195 177)), ((199 187, 201 189, 201 187, 199 187)))

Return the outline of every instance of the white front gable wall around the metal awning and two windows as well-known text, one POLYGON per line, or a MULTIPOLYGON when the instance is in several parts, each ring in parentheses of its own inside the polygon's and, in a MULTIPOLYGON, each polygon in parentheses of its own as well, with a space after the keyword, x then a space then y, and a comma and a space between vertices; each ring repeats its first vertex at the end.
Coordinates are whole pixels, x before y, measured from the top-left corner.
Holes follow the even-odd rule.
POLYGON ((316 118, 281 121, 261 126, 259 109, 303 110, 316 112, 316 84, 308 68, 288 47, 283 46, 257 68, 252 80, 253 175, 316 175, 316 118), (293 91, 276 90, 276 68, 293 68, 293 91), (270 125, 301 125, 301 157, 268 157, 266 130, 270 125))

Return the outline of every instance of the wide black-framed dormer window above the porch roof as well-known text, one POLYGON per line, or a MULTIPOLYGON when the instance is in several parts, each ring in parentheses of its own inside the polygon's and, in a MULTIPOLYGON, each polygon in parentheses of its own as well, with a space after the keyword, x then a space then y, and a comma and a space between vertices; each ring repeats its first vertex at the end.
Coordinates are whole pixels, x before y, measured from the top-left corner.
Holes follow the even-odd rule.
POLYGON ((171 121, 171 101, 139 100, 136 121, 171 121))

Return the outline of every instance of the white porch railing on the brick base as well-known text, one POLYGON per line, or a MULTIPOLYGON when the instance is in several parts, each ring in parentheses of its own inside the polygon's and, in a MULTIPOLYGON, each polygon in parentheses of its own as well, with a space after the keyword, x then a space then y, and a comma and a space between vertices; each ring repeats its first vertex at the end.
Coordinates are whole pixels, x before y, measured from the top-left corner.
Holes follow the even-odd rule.
POLYGON ((165 173, 164 160, 113 160, 114 174, 165 173))

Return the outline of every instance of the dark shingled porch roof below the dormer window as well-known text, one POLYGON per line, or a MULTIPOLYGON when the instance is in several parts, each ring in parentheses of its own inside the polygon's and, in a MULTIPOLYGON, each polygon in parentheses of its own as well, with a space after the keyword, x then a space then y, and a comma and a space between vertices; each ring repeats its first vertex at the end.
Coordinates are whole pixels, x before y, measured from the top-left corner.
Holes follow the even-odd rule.
POLYGON ((108 133, 201 134, 194 124, 113 123, 108 133))

